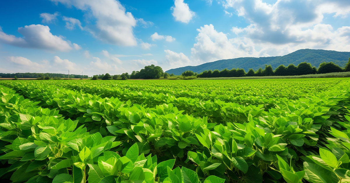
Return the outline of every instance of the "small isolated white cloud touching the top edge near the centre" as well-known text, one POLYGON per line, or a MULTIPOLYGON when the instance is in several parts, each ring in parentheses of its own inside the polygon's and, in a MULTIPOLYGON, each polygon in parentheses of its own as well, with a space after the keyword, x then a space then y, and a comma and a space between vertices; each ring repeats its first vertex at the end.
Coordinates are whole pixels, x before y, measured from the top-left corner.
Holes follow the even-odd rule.
POLYGON ((174 6, 171 8, 173 10, 173 16, 176 21, 183 23, 188 23, 195 16, 195 12, 191 11, 187 3, 183 0, 175 0, 174 6))

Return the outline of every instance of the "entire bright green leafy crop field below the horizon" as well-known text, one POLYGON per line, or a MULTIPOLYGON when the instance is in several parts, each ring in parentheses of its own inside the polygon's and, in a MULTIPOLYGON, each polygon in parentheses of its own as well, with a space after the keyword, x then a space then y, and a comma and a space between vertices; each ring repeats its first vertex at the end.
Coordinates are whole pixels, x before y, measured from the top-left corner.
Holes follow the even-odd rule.
POLYGON ((350 182, 350 78, 2 80, 0 180, 350 182))

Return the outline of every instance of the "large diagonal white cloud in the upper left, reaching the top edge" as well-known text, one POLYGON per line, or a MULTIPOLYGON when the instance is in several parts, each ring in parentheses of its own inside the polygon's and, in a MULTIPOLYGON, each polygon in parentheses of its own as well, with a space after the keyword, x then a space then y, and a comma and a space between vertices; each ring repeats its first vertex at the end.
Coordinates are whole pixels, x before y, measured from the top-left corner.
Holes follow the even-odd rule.
MULTIPOLYGON (((136 26, 136 20, 130 12, 116 0, 51 0, 61 2, 68 6, 75 6, 83 10, 86 15, 92 15, 96 23, 86 26, 94 37, 99 40, 121 46, 137 45, 133 34, 133 27, 136 26)), ((85 27, 84 27, 85 28, 85 27)))

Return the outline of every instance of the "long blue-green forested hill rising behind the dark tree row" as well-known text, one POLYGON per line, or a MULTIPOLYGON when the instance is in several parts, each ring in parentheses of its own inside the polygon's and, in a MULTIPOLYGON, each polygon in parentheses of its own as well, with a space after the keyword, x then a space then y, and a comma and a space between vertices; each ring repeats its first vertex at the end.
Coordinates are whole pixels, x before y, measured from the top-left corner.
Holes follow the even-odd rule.
POLYGON ((171 74, 181 75, 182 72, 190 70, 193 72, 201 73, 205 70, 219 71, 223 69, 240 68, 246 72, 249 69, 257 70, 259 68, 264 69, 265 65, 271 65, 273 69, 283 64, 288 66, 289 64, 298 65, 301 62, 308 62, 311 65, 318 67, 323 62, 333 62, 341 67, 349 61, 350 52, 330 51, 330 50, 313 50, 313 49, 301 49, 294 51, 285 56, 276 57, 241 57, 225 60, 218 60, 215 62, 208 62, 197 66, 185 66, 176 69, 170 69, 166 71, 171 74))

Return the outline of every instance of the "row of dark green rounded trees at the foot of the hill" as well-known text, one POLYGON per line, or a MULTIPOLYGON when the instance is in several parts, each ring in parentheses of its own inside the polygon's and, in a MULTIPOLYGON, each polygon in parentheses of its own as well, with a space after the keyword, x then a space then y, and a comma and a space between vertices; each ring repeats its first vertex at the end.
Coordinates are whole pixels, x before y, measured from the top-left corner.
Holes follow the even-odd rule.
POLYGON ((290 64, 287 67, 284 65, 278 66, 273 70, 271 65, 266 65, 265 69, 259 68, 254 71, 250 69, 248 72, 245 72, 244 69, 224 69, 219 70, 205 70, 202 73, 198 74, 193 71, 185 71, 182 73, 183 76, 197 76, 200 78, 214 78, 214 77, 244 77, 244 76, 300 76, 308 74, 321 74, 321 73, 330 73, 330 72, 349 72, 350 71, 350 58, 349 62, 346 64, 345 68, 341 68, 339 65, 333 62, 323 62, 318 66, 318 68, 311 66, 310 63, 302 62, 295 66, 290 64))

